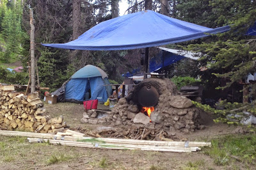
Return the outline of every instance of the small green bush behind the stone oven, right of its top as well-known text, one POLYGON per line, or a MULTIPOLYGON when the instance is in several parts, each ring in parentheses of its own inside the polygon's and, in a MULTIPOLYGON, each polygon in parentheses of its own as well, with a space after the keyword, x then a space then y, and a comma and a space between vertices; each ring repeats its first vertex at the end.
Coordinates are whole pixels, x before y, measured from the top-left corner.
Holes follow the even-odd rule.
POLYGON ((172 82, 177 86, 178 89, 180 89, 182 86, 188 86, 193 85, 195 82, 200 82, 200 80, 196 80, 193 77, 178 77, 174 76, 171 79, 172 82))

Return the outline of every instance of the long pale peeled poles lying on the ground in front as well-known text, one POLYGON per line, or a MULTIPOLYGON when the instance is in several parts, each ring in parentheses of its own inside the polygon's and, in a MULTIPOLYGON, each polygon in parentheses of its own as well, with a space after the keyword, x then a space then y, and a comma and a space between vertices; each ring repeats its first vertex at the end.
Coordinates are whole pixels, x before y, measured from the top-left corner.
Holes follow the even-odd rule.
POLYGON ((113 139, 84 137, 85 134, 67 130, 53 134, 37 134, 33 132, 10 132, 0 130, 0 135, 26 136, 29 143, 51 143, 56 145, 77 146, 84 148, 106 148, 115 150, 148 150, 169 152, 192 152, 211 146, 206 142, 182 141, 146 141, 134 139, 113 139))

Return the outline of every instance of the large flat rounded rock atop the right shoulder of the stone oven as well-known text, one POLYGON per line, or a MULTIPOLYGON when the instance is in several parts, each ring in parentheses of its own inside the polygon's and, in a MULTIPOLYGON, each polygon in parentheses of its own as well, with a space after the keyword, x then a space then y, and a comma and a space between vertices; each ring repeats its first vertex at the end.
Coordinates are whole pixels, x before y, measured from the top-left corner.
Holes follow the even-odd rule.
POLYGON ((191 100, 187 97, 171 96, 170 100, 170 105, 178 109, 186 109, 193 105, 191 100))

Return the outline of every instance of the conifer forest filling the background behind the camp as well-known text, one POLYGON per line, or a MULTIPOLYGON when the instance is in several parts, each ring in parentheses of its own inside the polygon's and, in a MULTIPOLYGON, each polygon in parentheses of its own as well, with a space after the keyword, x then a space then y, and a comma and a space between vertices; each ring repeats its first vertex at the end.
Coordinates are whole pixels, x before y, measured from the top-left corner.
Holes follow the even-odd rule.
MULTIPOLYGON (((0 0, 0 82, 27 84, 29 75, 29 8, 35 18, 35 56, 40 86, 54 91, 85 65, 95 65, 112 82, 122 82, 122 73, 140 68, 144 49, 87 51, 47 48, 41 43, 65 43, 75 40, 91 27, 119 15, 125 0, 0 0), (7 67, 21 61, 24 72, 11 73, 7 67)), ((152 9, 170 17, 205 27, 229 25, 232 31, 189 42, 166 45, 200 52, 199 61, 182 60, 170 66, 170 76, 200 77, 205 89, 226 95, 237 82, 255 72, 255 37, 244 35, 256 21, 253 0, 127 0, 125 13, 152 9), (145 7, 146 6, 146 7, 145 7), (204 68, 204 72, 200 71, 204 68), (222 93, 226 91, 227 93, 222 93)), ((150 48, 150 58, 156 49, 150 48)), ((239 88, 237 88, 239 89, 239 88)), ((252 89, 255 87, 252 86, 252 89)), ((237 96, 239 98, 240 96, 237 96)), ((233 98, 234 99, 234 98, 233 98)), ((237 99, 238 100, 238 99, 237 99)), ((236 101, 236 100, 235 100, 236 101)))

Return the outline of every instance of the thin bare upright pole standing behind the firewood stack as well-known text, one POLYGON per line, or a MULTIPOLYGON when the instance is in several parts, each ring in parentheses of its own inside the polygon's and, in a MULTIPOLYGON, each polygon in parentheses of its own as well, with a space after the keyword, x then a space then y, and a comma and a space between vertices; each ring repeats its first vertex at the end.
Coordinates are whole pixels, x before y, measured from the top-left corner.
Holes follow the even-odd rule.
POLYGON ((31 57, 31 93, 36 91, 36 77, 35 77, 35 26, 33 10, 29 10, 30 14, 30 57, 31 57))

